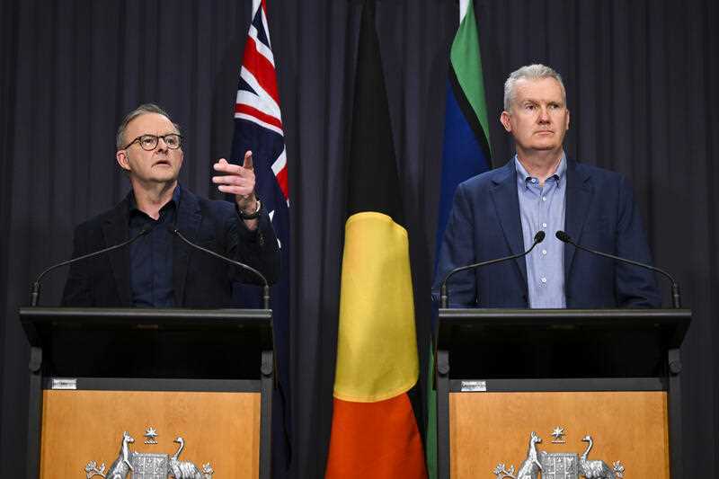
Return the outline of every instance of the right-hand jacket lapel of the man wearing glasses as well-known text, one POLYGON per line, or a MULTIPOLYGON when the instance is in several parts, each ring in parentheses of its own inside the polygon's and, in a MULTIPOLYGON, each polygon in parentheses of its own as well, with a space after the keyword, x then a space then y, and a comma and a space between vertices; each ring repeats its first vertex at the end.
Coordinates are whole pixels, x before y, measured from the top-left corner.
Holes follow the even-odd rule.
MULTIPOLYGON (((202 215, 197 197, 186 188, 182 188, 180 203, 177 205, 177 229, 192 243, 197 243, 197 232, 200 227, 202 215)), ((173 289, 174 306, 184 304, 185 283, 187 270, 193 248, 185 244, 180 238, 173 240, 173 289)))

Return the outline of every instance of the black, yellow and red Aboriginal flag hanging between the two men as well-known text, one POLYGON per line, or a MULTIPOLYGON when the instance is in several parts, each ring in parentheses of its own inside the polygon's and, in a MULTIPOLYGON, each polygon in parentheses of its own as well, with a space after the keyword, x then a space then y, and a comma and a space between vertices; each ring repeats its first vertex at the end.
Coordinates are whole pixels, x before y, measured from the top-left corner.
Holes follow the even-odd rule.
POLYGON ((365 2, 359 31, 330 479, 427 475, 408 395, 419 373, 413 283, 374 8, 365 2))

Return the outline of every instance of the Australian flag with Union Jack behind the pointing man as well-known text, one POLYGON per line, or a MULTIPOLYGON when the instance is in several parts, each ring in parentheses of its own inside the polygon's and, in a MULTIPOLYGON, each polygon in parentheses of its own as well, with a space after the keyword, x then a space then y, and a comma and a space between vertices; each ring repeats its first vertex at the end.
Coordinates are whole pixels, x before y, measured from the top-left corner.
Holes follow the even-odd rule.
MULTIPOLYGON (((253 152, 255 191, 262 208, 270 214, 282 258, 280 280, 271 289, 276 374, 280 379, 280 388, 272 397, 272 470, 274 477, 282 477, 289 461, 289 189, 280 94, 265 0, 253 0, 253 20, 247 32, 235 101, 233 163, 242 164, 247 150, 253 152)), ((235 295, 245 307, 262 307, 259 288, 243 286, 235 295)))

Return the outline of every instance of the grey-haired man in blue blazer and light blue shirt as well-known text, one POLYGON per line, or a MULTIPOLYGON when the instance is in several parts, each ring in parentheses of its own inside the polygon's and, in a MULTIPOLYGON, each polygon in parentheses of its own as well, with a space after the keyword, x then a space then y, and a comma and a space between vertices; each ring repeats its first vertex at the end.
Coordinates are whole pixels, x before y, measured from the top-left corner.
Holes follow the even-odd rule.
POLYGON ((658 307, 651 271, 578 251, 565 231, 592 249, 638 262, 651 255, 626 178, 564 154, 569 111, 562 78, 543 65, 521 67, 504 85, 502 126, 517 155, 457 188, 439 253, 438 283, 458 266, 526 251, 519 260, 457 273, 450 306, 658 307))

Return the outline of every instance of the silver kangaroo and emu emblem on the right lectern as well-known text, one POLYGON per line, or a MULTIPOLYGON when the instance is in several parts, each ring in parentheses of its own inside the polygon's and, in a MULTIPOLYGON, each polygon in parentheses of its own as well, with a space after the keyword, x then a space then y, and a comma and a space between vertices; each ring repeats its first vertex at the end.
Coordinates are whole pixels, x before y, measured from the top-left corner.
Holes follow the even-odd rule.
MULTIPOLYGON (((557 428, 553 433, 555 438, 564 435, 561 428, 557 428)), ((580 455, 577 453, 566 452, 546 452, 537 449, 537 444, 542 439, 532 432, 529 435, 529 447, 527 458, 519 466, 519 470, 515 473, 514 466, 505 466, 504 463, 498 464, 494 468, 495 479, 579 479, 580 476, 585 479, 621 479, 624 477, 624 466, 617 461, 611 467, 602 460, 590 460, 590 450, 593 446, 591 436, 588 434, 581 439, 587 442, 587 447, 580 455)), ((552 441, 557 444, 564 444, 564 441, 552 441)))

